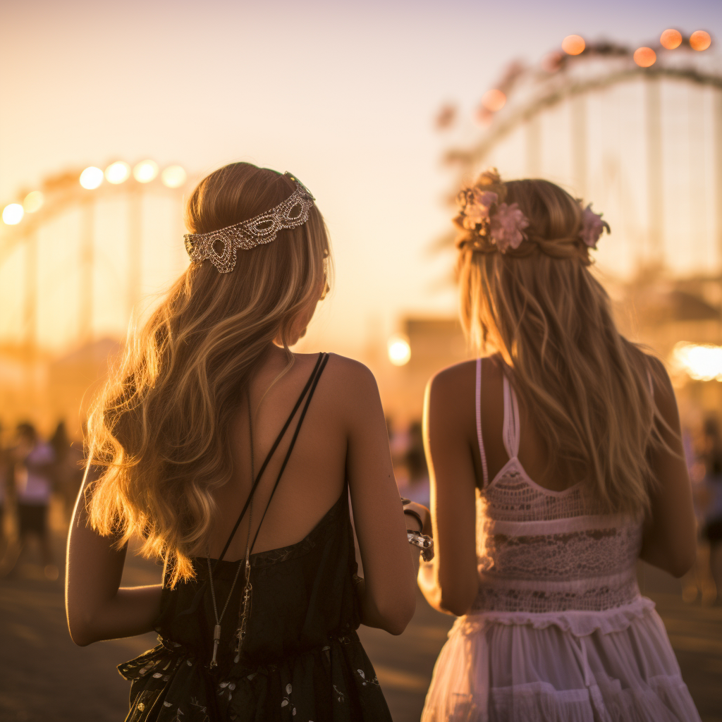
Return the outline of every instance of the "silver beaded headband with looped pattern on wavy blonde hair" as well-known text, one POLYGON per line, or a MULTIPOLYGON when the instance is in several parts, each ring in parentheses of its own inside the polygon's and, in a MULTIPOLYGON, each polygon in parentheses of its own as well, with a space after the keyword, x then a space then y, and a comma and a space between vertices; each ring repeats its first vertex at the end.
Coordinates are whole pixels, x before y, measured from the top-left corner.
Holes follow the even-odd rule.
POLYGON ((269 211, 219 230, 184 235, 191 261, 199 264, 207 258, 219 273, 230 273, 235 268, 238 248, 250 251, 257 245, 276 240, 279 230, 303 225, 316 199, 294 175, 284 175, 296 184, 296 189, 285 201, 269 211))

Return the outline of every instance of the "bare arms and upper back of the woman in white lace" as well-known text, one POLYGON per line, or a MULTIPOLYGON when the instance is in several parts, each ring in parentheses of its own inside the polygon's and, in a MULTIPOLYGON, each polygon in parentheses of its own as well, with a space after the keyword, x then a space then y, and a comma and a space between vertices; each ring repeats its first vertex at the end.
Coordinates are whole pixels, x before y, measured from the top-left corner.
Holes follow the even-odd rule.
MULTIPOLYGON (((657 363, 650 360, 650 363, 657 363)), ((481 367, 480 421, 492 482, 510 461, 503 440, 505 370, 495 357, 481 367)), ((689 568, 694 558, 694 514, 690 480, 679 440, 679 416, 669 379, 658 364, 662 379, 654 386, 655 401, 666 427, 659 432, 669 445, 651 459, 655 479, 651 510, 645 520, 640 557, 673 574, 689 568)), ((438 609, 465 614, 477 596, 477 490, 484 487, 479 452, 476 404, 477 363, 449 367, 432 378, 425 403, 425 445, 430 462, 432 513, 437 546, 436 580, 424 588, 427 600, 438 609)), ((518 396, 521 397, 521 394, 518 396)), ((559 493, 583 481, 583 473, 549 459, 536 428, 534 409, 518 398, 519 440, 516 459, 536 486, 559 493)), ((614 419, 609 419, 614 423, 614 419)))

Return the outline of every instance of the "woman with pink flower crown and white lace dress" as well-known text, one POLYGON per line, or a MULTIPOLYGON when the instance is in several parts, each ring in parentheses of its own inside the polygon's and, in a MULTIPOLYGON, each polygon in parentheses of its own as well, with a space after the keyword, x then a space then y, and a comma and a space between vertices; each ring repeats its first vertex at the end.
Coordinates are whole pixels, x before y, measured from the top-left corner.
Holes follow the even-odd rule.
POLYGON ((669 378, 590 271, 609 226, 495 171, 458 202, 461 321, 488 355, 427 388, 418 580, 458 619, 422 721, 699 720, 635 578, 690 568, 695 516, 669 378))

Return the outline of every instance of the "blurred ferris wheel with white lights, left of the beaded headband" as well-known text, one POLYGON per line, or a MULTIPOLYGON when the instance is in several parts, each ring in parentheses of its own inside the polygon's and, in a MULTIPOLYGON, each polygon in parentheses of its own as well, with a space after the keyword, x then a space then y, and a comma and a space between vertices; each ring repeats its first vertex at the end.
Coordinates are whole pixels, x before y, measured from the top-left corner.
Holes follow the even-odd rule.
POLYGON ((122 336, 153 269, 157 285, 187 263, 188 183, 180 165, 114 160, 50 175, 4 204, 0 344, 32 353, 122 336))

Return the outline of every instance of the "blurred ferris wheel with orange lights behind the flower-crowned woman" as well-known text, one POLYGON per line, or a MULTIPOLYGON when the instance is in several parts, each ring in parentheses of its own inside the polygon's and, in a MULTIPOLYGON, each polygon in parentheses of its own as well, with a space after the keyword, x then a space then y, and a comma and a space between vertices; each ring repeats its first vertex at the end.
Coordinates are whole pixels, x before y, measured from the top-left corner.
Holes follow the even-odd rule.
POLYGON ((677 277, 722 269, 722 67, 703 30, 665 30, 630 48, 570 35, 541 63, 512 64, 473 117, 452 105, 455 187, 489 166, 544 177, 603 211, 613 234, 597 256, 616 278, 640 268, 677 277))

